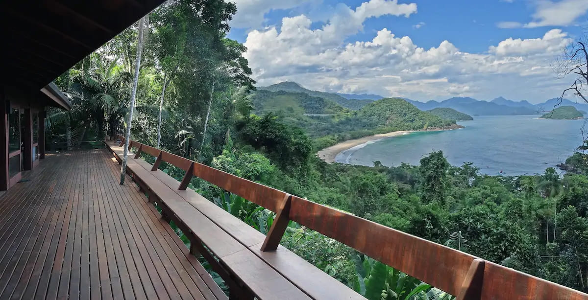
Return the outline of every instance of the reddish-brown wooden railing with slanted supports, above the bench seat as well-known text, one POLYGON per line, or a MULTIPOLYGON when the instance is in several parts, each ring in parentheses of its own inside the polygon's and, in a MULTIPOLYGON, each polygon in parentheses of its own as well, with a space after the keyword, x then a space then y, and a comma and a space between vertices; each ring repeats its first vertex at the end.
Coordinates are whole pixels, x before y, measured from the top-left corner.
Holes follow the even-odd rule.
MULTIPOLYGON (((125 144, 124 137, 116 137, 125 144)), ((137 141, 135 158, 141 153, 156 157, 152 170, 162 161, 186 171, 179 189, 192 177, 239 195, 276 213, 262 251, 276 250, 289 221, 318 231, 390 267, 456 295, 457 299, 588 299, 588 294, 546 281, 485 259, 415 237, 352 214, 263 186, 137 141)))

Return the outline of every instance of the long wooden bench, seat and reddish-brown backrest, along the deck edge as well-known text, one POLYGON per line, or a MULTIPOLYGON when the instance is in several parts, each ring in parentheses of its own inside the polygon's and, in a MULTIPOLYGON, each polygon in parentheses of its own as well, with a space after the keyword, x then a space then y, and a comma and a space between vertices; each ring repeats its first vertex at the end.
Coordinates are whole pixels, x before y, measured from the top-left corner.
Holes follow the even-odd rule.
MULTIPOLYGON (((115 139, 119 140, 120 143, 118 141, 111 142, 109 147, 115 153, 115 157, 120 160, 123 150, 121 146, 125 144, 125 141, 122 136, 117 136, 115 139)), ((239 255, 246 253, 246 257, 253 259, 255 264, 259 263, 258 260, 255 260, 256 257, 263 264, 275 270, 272 277, 277 276, 286 279, 310 298, 363 299, 362 296, 353 292, 347 286, 340 284, 340 282, 279 245, 288 222, 294 221, 342 242, 390 267, 427 282, 427 284, 456 295, 457 300, 498 298, 588 299, 587 294, 566 286, 485 261, 473 255, 290 195, 275 188, 254 183, 136 141, 129 143, 129 150, 132 148, 136 149, 137 154, 131 160, 132 165, 127 170, 133 175, 139 186, 143 187, 148 194, 153 195, 153 197, 149 198, 153 198, 156 203, 164 202, 151 191, 151 184, 155 184, 158 186, 160 196, 164 198, 170 197, 175 199, 173 201, 179 203, 183 201, 182 205, 175 207, 165 207, 163 205, 162 217, 169 219, 170 217, 167 217, 167 215, 172 215, 171 219, 184 232, 187 232, 192 241, 196 241, 192 244, 193 253, 202 252, 205 258, 215 267, 215 258, 206 249, 213 251, 213 254, 214 251, 222 253, 225 250, 223 245, 218 244, 211 244, 215 248, 211 249, 201 237, 198 237, 199 234, 204 234, 206 238, 209 238, 208 230, 210 229, 207 227, 205 228, 206 232, 203 232, 202 228, 196 227, 199 225, 198 223, 190 223, 192 221, 190 218, 195 216, 206 218, 219 229, 219 232, 226 234, 223 235, 223 238, 244 247, 239 248, 238 252, 233 252, 233 254, 238 253, 238 255, 220 259, 215 267, 215 270, 218 269, 223 278, 228 278, 226 281, 229 286, 235 287, 236 292, 231 291, 231 297, 236 295, 240 298, 250 299, 252 295, 257 295, 256 293, 264 291, 266 288, 265 285, 259 283, 259 280, 263 280, 265 277, 246 277, 246 274, 250 272, 247 267, 235 267, 239 263, 249 264, 249 262, 242 262, 237 259, 239 255), (156 157, 153 166, 139 159, 139 154, 141 153, 148 153, 156 157), (162 161, 186 172, 181 182, 178 183, 172 177, 158 171, 162 161), (133 171, 137 171, 144 178, 151 178, 149 183, 142 182, 142 178, 139 178, 139 175, 133 173, 133 171), (146 174, 151 174, 151 177, 146 176, 146 174), (268 235, 264 236, 253 228, 249 228, 237 218, 187 188, 192 177, 201 178, 275 212, 276 218, 268 235), (176 210, 178 209, 193 209, 198 213, 176 215, 176 210), (184 222, 183 219, 186 219, 186 224, 182 223, 184 222), (206 245, 207 248, 203 245, 206 245), (254 256, 249 255, 247 251, 254 254, 254 256), (240 276, 243 276, 243 278, 240 278, 240 276)), ((200 220, 200 222, 203 221, 200 220)), ((209 223, 206 224, 213 227, 209 223)), ((213 238, 211 239, 213 240, 213 238)), ((273 287, 270 286, 269 288, 272 289, 273 287)), ((268 292, 266 295, 272 294, 268 292)), ((258 298, 263 298, 263 296, 258 298)), ((280 295, 279 298, 284 298, 284 296, 280 295)))

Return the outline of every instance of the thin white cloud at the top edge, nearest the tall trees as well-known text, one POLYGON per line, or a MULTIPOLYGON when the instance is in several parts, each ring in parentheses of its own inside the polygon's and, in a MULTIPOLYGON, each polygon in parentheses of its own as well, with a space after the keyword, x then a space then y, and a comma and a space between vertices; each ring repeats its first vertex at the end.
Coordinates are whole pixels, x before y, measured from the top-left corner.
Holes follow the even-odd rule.
POLYGON ((232 0, 237 5, 237 14, 230 25, 233 28, 262 28, 267 12, 275 9, 289 9, 303 5, 310 0, 232 0))

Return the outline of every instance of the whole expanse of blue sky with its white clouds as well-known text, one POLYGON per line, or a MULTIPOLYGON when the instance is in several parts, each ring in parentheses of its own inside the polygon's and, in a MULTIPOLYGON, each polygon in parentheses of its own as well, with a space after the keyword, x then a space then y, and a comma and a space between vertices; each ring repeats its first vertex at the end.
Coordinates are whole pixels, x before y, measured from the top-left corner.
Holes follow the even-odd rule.
MULTIPOLYGON (((551 64, 588 27, 588 0, 237 0, 229 38, 259 85, 415 100, 559 96, 551 64)), ((566 81, 567 80, 567 81, 566 81)))

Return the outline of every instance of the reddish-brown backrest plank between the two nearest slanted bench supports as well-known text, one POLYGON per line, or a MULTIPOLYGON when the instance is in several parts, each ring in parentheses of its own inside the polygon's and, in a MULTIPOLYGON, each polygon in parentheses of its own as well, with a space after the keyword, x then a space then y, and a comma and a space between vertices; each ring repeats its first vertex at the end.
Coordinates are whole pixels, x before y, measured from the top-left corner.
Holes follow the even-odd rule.
POLYGON ((289 217, 452 295, 459 293, 475 259, 473 255, 299 197, 292 197, 289 217), (444 263, 431 268, 430 261, 444 263))

